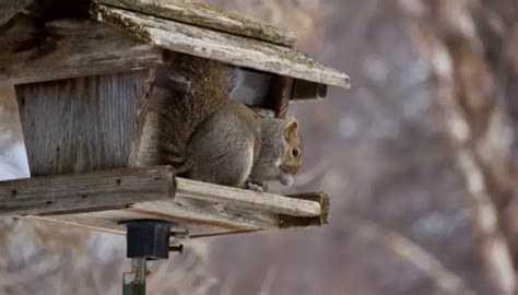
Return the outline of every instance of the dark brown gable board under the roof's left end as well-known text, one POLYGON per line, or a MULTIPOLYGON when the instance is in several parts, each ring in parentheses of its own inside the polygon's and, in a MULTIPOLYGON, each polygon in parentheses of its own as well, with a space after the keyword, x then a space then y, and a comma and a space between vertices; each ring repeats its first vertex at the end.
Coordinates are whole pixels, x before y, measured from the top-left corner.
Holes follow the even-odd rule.
POLYGON ((116 73, 158 63, 160 48, 91 20, 56 20, 42 27, 25 17, 0 36, 0 82, 12 84, 116 73))

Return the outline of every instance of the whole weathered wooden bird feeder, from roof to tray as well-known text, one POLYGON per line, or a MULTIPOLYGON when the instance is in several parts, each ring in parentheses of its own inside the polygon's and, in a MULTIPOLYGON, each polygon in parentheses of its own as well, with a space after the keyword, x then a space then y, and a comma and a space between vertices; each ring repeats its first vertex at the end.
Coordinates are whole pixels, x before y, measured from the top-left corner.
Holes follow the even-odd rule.
POLYGON ((146 93, 189 82, 152 73, 174 71, 178 56, 240 67, 263 83, 248 104, 278 117, 290 101, 349 87, 345 74, 295 50, 293 34, 185 1, 8 2, 0 83, 14 84, 32 177, 0 182, 0 215, 122 235, 125 221, 163 220, 189 238, 327 224, 323 192, 205 184, 146 157, 161 128, 146 93))

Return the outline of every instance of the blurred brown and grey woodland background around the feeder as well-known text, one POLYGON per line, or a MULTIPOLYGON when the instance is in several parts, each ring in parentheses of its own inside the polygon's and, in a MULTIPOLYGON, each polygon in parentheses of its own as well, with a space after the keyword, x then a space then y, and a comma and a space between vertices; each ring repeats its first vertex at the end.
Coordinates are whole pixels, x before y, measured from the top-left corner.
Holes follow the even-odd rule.
MULTIPOLYGON (((350 91, 291 105, 328 227, 196 240, 150 294, 517 294, 518 1, 211 0, 291 30, 350 91)), ((26 177, 0 88, 0 177, 26 177)), ((286 192, 280 187, 273 188, 286 192)), ((0 294, 120 294, 122 237, 4 220, 0 294)))

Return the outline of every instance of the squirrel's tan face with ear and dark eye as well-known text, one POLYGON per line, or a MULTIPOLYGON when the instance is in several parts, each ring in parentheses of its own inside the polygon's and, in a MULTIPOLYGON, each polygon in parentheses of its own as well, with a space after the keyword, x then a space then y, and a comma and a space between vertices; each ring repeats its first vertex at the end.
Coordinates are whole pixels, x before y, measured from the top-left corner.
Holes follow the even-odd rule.
POLYGON ((303 145, 298 134, 298 122, 295 118, 289 118, 283 127, 283 135, 286 141, 285 157, 281 169, 287 174, 295 175, 301 169, 303 145))

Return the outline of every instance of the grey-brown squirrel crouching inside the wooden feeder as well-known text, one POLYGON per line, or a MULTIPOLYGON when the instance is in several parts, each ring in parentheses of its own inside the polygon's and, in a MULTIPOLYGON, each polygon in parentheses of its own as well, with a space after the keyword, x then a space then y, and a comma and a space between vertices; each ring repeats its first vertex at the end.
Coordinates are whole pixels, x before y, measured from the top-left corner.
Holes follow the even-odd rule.
POLYGON ((154 86, 166 94, 155 95, 162 102, 149 106, 164 126, 161 164, 173 165, 181 177, 255 191, 270 180, 291 186, 302 164, 298 122, 261 117, 232 101, 234 67, 187 55, 173 58, 155 79, 154 86))

